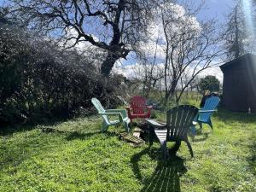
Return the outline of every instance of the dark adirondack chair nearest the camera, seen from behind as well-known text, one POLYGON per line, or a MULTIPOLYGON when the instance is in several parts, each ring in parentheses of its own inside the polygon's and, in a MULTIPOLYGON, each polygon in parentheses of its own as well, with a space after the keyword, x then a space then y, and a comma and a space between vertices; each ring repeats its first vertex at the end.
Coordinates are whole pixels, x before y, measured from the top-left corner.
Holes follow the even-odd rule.
MULTIPOLYGON (((188 145, 191 156, 194 156, 187 133, 197 112, 198 108, 194 106, 181 105, 167 111, 166 124, 160 124, 153 119, 146 119, 148 125, 154 128, 154 134, 160 141, 164 159, 168 156, 166 143, 169 141, 176 142, 175 152, 181 141, 184 141, 188 145)), ((152 141, 149 142, 152 144, 152 141)))

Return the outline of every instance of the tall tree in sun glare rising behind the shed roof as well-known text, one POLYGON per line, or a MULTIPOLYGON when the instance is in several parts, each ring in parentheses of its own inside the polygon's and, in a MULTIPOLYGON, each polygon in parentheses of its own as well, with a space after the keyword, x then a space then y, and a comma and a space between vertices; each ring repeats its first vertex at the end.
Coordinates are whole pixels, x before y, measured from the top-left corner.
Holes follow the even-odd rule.
POLYGON ((255 52, 256 18, 255 1, 237 0, 236 6, 227 16, 224 30, 224 47, 229 60, 255 52))

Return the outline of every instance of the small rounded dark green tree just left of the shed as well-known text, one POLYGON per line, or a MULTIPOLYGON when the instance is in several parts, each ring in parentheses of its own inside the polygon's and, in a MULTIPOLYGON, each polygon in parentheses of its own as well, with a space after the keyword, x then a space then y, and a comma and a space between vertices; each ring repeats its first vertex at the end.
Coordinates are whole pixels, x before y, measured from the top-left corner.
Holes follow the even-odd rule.
POLYGON ((203 94, 206 90, 218 91, 219 90, 219 80, 212 75, 207 75, 205 78, 200 79, 198 87, 203 94))

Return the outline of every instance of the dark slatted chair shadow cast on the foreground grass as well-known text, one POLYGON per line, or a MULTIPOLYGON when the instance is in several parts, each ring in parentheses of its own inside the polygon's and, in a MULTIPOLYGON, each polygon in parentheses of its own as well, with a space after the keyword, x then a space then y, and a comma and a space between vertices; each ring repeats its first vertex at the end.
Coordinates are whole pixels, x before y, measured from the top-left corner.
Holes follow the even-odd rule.
POLYGON ((155 153, 152 149, 146 148, 131 157, 132 170, 137 176, 137 179, 144 184, 141 191, 181 191, 180 177, 187 172, 187 169, 183 164, 184 160, 176 155, 170 156, 170 159, 166 161, 158 160, 152 176, 143 179, 138 162, 144 154, 148 154, 152 160, 159 156, 159 154, 155 153))

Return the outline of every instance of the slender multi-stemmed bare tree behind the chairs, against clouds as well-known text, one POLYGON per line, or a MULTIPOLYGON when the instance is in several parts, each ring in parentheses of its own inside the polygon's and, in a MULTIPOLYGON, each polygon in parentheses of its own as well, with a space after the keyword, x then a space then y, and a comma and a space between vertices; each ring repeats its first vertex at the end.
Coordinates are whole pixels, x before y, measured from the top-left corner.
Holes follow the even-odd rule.
POLYGON ((196 20, 199 9, 191 10, 186 3, 183 7, 168 2, 160 4, 153 11, 150 38, 137 42, 143 58, 139 60, 141 65, 135 66, 137 79, 142 79, 146 95, 148 90, 157 88, 164 105, 170 98, 178 103, 189 84, 214 66, 212 61, 221 53, 215 22, 196 20))

